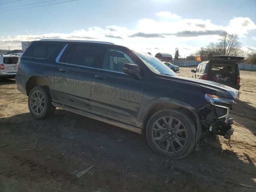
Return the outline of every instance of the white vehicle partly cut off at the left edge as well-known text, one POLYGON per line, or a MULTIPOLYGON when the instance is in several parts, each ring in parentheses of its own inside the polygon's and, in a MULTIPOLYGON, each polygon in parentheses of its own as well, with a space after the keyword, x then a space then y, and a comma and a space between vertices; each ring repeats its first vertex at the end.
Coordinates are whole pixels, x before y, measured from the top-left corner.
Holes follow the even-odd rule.
POLYGON ((19 56, 0 55, 0 81, 4 78, 15 78, 19 56))

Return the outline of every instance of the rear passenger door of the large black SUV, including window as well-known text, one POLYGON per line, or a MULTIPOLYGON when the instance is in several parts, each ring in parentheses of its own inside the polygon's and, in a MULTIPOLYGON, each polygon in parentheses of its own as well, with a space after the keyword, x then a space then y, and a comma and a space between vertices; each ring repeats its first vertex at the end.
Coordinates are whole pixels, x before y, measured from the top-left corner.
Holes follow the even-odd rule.
POLYGON ((99 50, 97 44, 66 44, 56 59, 55 102, 88 110, 99 50))

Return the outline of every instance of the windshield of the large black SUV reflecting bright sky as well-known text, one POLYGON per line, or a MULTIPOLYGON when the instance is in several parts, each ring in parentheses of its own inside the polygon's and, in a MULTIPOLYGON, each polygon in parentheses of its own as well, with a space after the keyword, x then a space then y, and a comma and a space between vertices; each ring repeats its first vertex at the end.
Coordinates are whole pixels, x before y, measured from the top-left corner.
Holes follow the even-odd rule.
POLYGON ((176 73, 174 73, 170 68, 168 68, 165 64, 163 64, 154 56, 142 52, 133 52, 144 62, 144 64, 146 64, 146 66, 152 72, 169 76, 178 76, 176 75, 176 73))

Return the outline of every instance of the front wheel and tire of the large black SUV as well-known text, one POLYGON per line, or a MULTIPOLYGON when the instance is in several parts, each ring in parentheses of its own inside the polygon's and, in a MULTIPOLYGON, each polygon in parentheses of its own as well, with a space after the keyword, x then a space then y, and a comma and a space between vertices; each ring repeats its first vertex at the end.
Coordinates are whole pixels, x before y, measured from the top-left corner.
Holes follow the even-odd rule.
POLYGON ((161 110, 155 113, 148 121, 146 136, 154 152, 172 159, 187 156, 196 144, 196 129, 193 121, 188 114, 176 109, 161 110), (178 126, 178 124, 180 125, 178 126))

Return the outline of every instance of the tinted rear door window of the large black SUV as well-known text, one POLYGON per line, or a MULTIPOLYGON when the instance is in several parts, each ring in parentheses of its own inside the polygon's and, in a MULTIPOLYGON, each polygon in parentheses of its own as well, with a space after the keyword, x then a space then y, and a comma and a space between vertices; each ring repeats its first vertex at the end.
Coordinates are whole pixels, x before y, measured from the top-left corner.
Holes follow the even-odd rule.
POLYGON ((94 67, 94 60, 98 51, 97 46, 70 45, 60 58, 60 62, 94 67))

